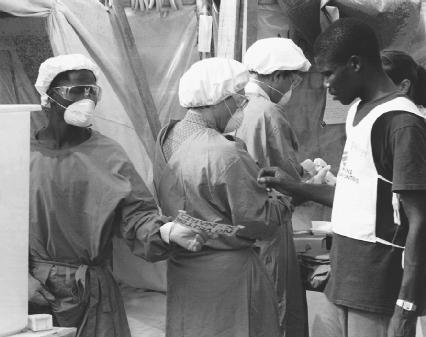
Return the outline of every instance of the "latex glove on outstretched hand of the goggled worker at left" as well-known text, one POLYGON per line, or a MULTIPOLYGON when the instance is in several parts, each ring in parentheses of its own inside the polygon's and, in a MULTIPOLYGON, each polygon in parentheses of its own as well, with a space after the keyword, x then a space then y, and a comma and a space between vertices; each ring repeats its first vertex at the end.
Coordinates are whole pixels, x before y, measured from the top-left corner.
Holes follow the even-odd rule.
POLYGON ((191 252, 200 251, 208 240, 205 233, 175 222, 168 222, 161 226, 160 235, 164 242, 174 242, 191 252))

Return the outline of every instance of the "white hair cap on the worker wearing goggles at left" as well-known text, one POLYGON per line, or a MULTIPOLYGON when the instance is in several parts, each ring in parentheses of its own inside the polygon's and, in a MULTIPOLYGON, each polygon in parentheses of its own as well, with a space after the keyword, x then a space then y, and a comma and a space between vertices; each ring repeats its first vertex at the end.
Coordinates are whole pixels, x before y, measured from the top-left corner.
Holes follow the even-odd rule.
POLYGON ((68 54, 50 57, 44 61, 38 70, 35 88, 41 95, 41 105, 47 104, 47 89, 53 79, 60 73, 68 70, 87 69, 93 72, 96 78, 99 75, 98 66, 87 56, 81 54, 68 54))

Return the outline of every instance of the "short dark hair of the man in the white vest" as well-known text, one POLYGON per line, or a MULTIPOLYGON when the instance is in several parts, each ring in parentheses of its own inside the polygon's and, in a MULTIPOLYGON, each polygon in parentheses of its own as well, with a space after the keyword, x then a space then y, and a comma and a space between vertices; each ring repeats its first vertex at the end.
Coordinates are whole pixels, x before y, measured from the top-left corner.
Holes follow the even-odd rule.
POLYGON ((343 64, 353 55, 381 66, 377 36, 367 23, 358 19, 344 18, 333 22, 314 43, 314 56, 331 62, 343 64))

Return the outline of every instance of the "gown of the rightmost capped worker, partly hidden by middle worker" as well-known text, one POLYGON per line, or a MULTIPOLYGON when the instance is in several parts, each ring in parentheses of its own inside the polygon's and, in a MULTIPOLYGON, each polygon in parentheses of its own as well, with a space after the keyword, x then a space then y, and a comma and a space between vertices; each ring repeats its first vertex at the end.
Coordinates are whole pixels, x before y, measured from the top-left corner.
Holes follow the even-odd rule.
MULTIPOLYGON (((245 93, 249 103, 236 136, 246 143, 260 167, 277 166, 300 179, 297 137, 283 112, 256 83, 249 82, 245 93)), ((281 226, 274 238, 256 245, 275 283, 283 336, 305 337, 309 334, 306 296, 294 248, 290 201, 288 205, 281 213, 281 226)))

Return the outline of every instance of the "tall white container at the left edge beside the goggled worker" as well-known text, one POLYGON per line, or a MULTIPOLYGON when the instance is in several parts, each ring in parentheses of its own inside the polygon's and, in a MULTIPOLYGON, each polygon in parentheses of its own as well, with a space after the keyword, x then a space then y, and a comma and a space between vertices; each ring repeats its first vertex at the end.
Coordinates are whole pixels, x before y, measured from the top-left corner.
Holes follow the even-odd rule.
POLYGON ((34 108, 0 105, 0 336, 27 325, 29 111, 34 108))

